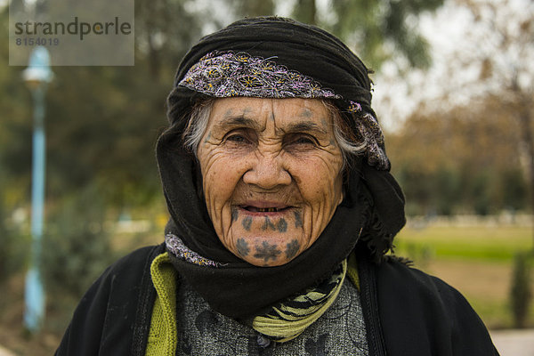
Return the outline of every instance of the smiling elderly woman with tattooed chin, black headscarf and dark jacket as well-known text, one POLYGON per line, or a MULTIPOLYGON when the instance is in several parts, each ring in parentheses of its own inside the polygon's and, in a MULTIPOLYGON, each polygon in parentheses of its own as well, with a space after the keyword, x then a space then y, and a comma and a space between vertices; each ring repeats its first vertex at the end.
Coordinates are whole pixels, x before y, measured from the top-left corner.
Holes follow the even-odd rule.
POLYGON ((240 20, 185 56, 157 157, 165 243, 109 267, 58 355, 497 355, 455 289, 392 255, 404 198, 369 70, 240 20))

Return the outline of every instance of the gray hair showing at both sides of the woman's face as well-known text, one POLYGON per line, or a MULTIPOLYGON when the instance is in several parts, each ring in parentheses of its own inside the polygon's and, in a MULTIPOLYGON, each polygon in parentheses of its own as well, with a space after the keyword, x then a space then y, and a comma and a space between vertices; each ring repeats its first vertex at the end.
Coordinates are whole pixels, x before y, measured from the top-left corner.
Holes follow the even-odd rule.
MULTIPOLYGON (((182 134, 183 146, 186 150, 193 152, 197 157, 197 150, 202 137, 206 133, 209 115, 213 108, 215 99, 207 99, 193 106, 189 122, 182 134)), ((328 109, 334 123, 334 137, 343 156, 343 168, 348 164, 349 158, 359 156, 366 151, 365 139, 358 139, 352 133, 352 129, 344 122, 343 117, 337 107, 329 101, 321 100, 328 109)))

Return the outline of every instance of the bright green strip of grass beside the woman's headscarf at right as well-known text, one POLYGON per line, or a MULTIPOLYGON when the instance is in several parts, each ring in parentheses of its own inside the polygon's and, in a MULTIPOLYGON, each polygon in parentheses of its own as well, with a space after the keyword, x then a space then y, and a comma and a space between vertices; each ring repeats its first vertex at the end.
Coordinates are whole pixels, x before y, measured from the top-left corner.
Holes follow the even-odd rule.
POLYGON ((396 253, 416 258, 477 259, 511 262, 517 251, 533 245, 532 229, 517 226, 405 228, 395 238, 396 253))

